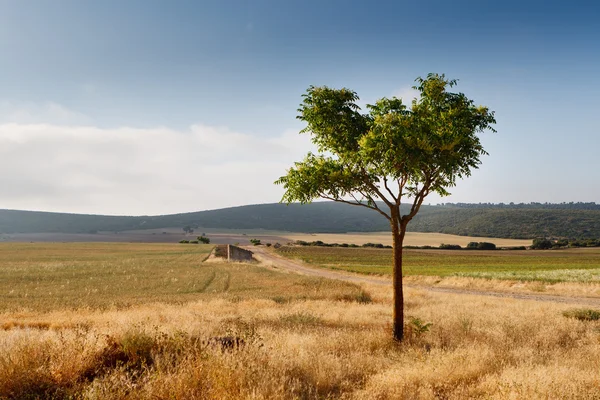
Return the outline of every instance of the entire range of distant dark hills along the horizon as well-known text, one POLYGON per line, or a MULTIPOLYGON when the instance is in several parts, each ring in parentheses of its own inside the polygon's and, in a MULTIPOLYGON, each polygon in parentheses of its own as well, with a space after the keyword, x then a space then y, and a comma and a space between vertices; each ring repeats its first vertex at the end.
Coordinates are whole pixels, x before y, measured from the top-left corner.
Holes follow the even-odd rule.
MULTIPOLYGON (((259 204, 158 216, 104 216, 0 210, 0 233, 122 232, 167 227, 267 229, 292 232, 375 232, 389 229, 381 215, 333 202, 259 204)), ((412 232, 503 238, 600 238, 600 205, 444 204, 423 206, 412 232)))

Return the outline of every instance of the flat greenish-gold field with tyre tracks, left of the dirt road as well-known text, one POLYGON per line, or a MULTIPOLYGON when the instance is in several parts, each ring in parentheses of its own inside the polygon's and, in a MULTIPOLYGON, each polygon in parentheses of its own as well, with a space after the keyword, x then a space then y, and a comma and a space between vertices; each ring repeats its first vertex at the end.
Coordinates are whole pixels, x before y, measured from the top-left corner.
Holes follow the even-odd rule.
POLYGON ((0 312, 122 309, 214 297, 344 298, 357 285, 247 264, 202 263, 209 245, 0 244, 0 312))

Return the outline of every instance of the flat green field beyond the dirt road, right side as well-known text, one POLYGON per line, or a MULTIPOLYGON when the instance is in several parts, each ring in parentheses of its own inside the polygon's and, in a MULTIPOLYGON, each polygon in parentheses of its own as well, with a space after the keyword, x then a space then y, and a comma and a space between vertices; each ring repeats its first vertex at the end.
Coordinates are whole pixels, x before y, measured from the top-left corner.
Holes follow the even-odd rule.
MULTIPOLYGON (((392 251, 284 246, 277 252, 323 268, 391 274, 392 251)), ((599 282, 600 249, 549 251, 404 250, 404 275, 468 276, 545 282, 599 282)))

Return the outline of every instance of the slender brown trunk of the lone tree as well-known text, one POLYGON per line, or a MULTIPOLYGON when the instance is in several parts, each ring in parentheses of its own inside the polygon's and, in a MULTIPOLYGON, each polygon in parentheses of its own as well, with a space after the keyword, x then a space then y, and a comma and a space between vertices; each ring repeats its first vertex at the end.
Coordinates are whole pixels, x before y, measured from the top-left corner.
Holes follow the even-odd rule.
POLYGON ((394 313, 393 335, 394 339, 401 342, 404 338, 404 292, 402 290, 402 243, 404 242, 405 229, 402 229, 399 216, 392 215, 392 238, 394 253, 394 313))

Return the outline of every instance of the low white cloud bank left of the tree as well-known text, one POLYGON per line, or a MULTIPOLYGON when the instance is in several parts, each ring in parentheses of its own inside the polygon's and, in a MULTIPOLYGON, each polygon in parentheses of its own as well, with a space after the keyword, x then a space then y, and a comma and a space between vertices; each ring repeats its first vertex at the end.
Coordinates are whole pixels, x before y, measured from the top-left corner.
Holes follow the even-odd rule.
POLYGON ((311 149, 296 132, 5 123, 0 208, 140 215, 275 202, 273 181, 311 149))

